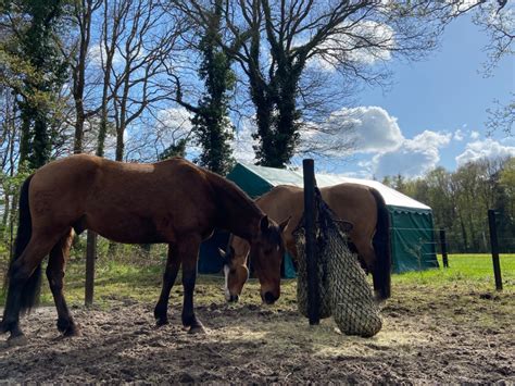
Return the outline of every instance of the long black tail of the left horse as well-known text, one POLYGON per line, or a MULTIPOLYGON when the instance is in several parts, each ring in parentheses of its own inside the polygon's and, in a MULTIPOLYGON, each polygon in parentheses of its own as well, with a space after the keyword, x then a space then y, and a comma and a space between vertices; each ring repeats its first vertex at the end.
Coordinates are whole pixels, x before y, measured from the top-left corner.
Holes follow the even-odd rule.
MULTIPOLYGON (((33 175, 28 176, 23 183, 22 189, 20 191, 20 221, 17 225, 16 241, 14 244, 14 253, 12 254, 11 261, 9 263, 9 274, 7 275, 5 284, 9 284, 8 282, 13 274, 13 264, 22 256, 33 234, 33 220, 30 216, 30 208, 28 202, 28 187, 32 179, 33 175)), ((8 285, 5 285, 5 287, 8 287, 8 285)), ((36 267, 32 276, 23 285, 20 297, 20 310, 22 313, 30 311, 30 309, 37 303, 40 288, 41 264, 36 267)))

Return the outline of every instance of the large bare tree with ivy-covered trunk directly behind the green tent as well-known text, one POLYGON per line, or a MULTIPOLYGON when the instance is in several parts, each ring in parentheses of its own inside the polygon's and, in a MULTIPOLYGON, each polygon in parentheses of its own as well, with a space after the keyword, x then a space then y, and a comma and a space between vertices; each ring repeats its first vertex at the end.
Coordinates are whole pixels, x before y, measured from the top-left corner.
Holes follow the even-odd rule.
MULTIPOLYGON (((208 22, 210 1, 177 3, 194 23, 208 22)), ((226 34, 218 43, 249 80, 259 163, 282 167, 298 149, 306 69, 384 84, 391 55, 415 60, 436 46, 449 11, 427 1, 226 0, 226 34), (240 50, 228 43, 236 40, 240 50)))

